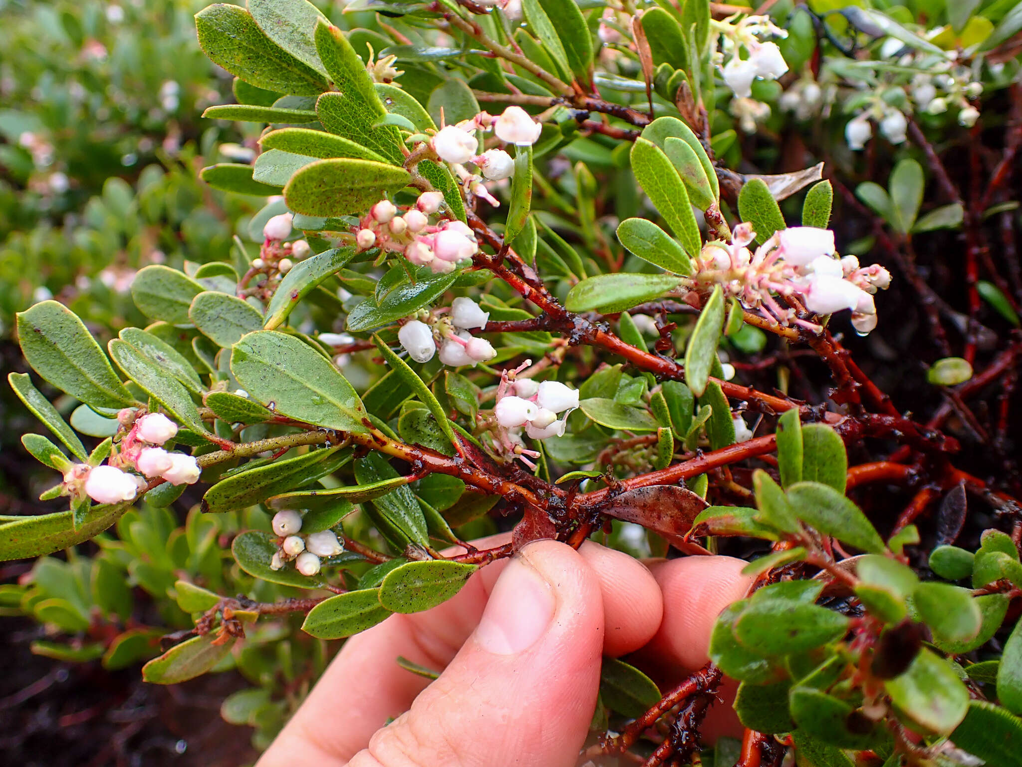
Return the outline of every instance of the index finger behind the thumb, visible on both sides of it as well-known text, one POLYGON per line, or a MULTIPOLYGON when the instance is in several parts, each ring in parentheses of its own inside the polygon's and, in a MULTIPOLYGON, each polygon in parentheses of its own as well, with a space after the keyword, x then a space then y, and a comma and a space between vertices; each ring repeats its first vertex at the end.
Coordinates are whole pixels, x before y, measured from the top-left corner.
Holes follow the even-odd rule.
MULTIPOLYGON (((506 537, 494 536, 476 545, 499 546, 506 537)), ((605 615, 615 627, 605 651, 617 656, 639 648, 660 624, 662 599, 652 575, 632 557, 595 543, 583 545, 580 552, 593 563, 605 615)), ((370 736, 406 711, 428 684, 394 660, 403 656, 443 670, 475 629, 506 565, 501 560, 480 569, 457 596, 433 610, 391 616, 349 639, 259 767, 289 767, 296 754, 317 764, 338 764, 364 749, 370 736)))

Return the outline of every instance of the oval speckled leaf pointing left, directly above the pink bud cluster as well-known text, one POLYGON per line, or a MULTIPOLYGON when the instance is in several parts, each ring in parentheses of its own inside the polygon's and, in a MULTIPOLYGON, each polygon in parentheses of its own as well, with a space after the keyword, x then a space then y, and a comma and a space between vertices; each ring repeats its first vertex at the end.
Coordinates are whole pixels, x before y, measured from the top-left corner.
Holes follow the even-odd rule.
POLYGON ((369 210, 408 183, 411 174, 371 160, 318 160, 295 173, 284 187, 287 207, 307 216, 346 216, 369 210))

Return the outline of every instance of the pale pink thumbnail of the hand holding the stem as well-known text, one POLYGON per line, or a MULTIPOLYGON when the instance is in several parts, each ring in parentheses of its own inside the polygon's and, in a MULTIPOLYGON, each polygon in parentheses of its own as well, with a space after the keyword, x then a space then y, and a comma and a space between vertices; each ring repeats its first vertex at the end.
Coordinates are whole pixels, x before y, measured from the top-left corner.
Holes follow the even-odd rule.
POLYGON ((555 606, 550 584, 516 556, 497 579, 475 629, 475 640, 498 656, 523 652, 547 631, 555 606))

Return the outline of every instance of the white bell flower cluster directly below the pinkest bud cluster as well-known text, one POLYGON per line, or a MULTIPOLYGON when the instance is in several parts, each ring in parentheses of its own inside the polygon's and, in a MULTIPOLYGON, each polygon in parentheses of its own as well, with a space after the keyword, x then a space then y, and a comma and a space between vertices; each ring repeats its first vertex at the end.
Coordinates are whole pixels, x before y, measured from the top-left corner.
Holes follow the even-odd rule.
MULTIPOLYGON (((443 315, 444 310, 440 310, 443 315)), ((409 319, 398 331, 398 341, 416 362, 429 362, 439 343, 440 362, 451 367, 475 365, 497 356, 497 350, 485 339, 473 336, 469 330, 483 328, 490 312, 482 311, 471 299, 458 298, 451 304, 447 316, 426 316, 409 319)))

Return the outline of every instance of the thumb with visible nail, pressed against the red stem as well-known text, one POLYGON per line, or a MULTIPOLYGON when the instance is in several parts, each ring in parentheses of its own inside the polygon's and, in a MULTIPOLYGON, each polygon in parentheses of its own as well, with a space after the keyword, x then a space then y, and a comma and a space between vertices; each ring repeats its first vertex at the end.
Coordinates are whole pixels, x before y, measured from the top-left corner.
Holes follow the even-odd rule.
POLYGON ((540 541, 505 568, 472 636, 350 767, 570 767, 596 703, 603 649, 596 574, 540 541))

